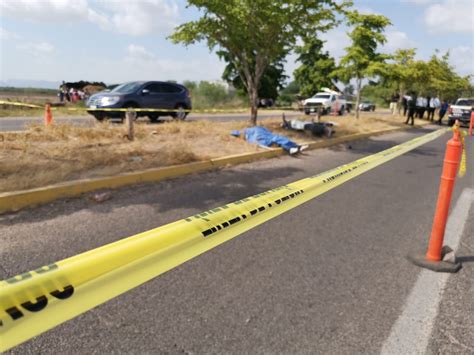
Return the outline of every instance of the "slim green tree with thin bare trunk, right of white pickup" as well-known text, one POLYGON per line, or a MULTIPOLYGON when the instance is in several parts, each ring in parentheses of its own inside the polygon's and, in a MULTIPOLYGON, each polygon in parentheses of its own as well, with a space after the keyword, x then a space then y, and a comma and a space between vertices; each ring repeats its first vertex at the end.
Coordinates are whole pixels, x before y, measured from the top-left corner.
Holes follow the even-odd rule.
POLYGON ((377 46, 386 42, 383 32, 391 23, 385 16, 364 15, 357 11, 349 12, 347 19, 348 24, 354 26, 352 32, 348 33, 352 44, 346 48, 346 55, 333 75, 346 83, 351 79, 356 80, 356 118, 359 118, 362 79, 383 73, 387 56, 378 53, 377 46))

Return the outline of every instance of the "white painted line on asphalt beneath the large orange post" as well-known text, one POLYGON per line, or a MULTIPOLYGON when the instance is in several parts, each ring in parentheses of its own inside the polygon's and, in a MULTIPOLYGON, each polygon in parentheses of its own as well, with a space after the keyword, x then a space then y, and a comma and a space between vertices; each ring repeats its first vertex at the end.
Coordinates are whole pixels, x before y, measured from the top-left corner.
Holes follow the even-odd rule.
MULTIPOLYGON (((445 245, 454 251, 458 248, 473 201, 474 190, 464 189, 449 216, 445 245)), ((449 275, 426 269, 420 272, 381 354, 425 354, 449 275)))

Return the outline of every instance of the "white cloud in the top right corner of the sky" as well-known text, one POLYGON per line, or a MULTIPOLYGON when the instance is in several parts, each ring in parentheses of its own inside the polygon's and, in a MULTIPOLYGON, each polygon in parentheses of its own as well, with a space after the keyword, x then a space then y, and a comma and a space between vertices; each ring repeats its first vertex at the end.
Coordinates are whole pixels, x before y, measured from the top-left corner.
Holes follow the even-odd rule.
POLYGON ((473 15, 472 0, 443 0, 426 9, 424 20, 432 32, 474 33, 473 15))

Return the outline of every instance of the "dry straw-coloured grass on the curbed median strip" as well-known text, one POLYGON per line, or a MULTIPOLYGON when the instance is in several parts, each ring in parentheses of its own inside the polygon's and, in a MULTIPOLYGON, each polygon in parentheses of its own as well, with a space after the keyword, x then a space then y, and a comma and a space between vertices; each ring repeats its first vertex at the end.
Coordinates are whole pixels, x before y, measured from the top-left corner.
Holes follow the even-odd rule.
MULTIPOLYGON (((350 116, 326 120, 339 124, 337 136, 402 125, 401 119, 389 116, 365 116, 358 121, 350 116)), ((282 129, 281 118, 262 123, 298 142, 317 139, 282 129)), ((108 123, 87 128, 69 124, 32 125, 24 133, 5 132, 0 135, 0 192, 260 150, 230 135, 231 130, 246 126, 246 122, 235 121, 137 124, 134 142, 126 139, 125 126, 108 123)))

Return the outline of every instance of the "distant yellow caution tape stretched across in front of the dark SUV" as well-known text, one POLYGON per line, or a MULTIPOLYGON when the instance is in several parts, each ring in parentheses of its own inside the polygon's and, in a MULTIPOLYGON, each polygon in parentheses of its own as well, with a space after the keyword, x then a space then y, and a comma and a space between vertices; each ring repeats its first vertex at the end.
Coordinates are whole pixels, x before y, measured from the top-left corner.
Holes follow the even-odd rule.
MULTIPOLYGON (((44 108, 44 106, 25 104, 23 102, 12 102, 12 101, 2 101, 0 100, 0 105, 12 105, 12 106, 24 106, 30 108, 44 108)), ((206 110, 190 110, 190 109, 166 109, 166 108, 89 108, 89 107, 51 107, 51 110, 66 110, 66 111, 87 111, 87 112, 194 112, 194 113, 243 113, 248 112, 248 109, 206 109, 206 110)), ((264 111, 273 111, 273 110, 295 110, 291 107, 277 107, 272 109, 263 109, 264 111)))

